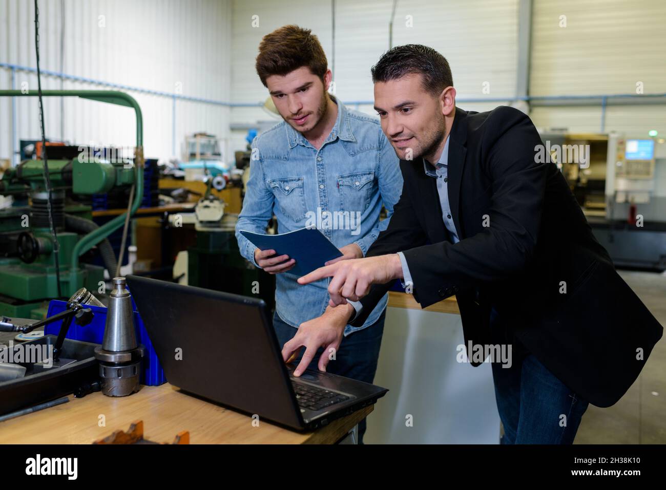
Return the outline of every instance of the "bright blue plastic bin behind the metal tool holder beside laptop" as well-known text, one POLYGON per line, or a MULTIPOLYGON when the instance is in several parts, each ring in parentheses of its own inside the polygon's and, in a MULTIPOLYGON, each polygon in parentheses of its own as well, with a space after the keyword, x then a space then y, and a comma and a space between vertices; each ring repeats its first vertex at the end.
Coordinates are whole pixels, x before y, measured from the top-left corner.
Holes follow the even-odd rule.
MULTIPOLYGON (((134 298, 132 298, 133 310, 134 310, 134 325, 137 332, 137 341, 139 344, 143 344, 146 348, 146 354, 142 360, 143 362, 143 372, 141 373, 141 384, 148 386, 157 386, 163 383, 166 383, 165 371, 162 369, 162 365, 159 360, 157 360, 157 354, 155 354, 155 349, 153 349, 153 344, 148 338, 148 332, 146 332, 145 327, 143 326, 143 320, 139 312, 137 312, 137 306, 134 304, 134 298)), ((107 323, 107 308, 102 306, 93 306, 86 305, 86 308, 93 310, 93 321, 82 327, 77 325, 74 321, 69 326, 69 332, 67 332, 67 338, 72 340, 83 340, 84 342, 92 342, 93 344, 102 344, 104 339, 104 328, 107 323)), ((53 316, 67 310, 67 302, 52 300, 49 303, 49 311, 47 316, 53 316)), ((59 322, 53 322, 52 324, 47 325, 44 328, 45 334, 58 335, 60 332, 60 326, 62 320, 59 322)))

